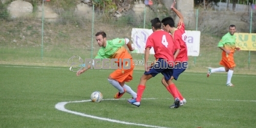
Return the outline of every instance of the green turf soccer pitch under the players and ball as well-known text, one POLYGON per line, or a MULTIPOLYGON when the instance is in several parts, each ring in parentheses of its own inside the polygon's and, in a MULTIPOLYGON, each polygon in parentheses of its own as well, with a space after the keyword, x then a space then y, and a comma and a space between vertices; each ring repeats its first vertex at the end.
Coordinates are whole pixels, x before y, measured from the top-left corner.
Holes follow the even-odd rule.
MULTIPOLYGON (((0 127, 256 127, 256 75, 184 72, 177 88, 187 103, 170 109, 174 99, 159 74, 149 80, 141 105, 127 103, 108 82, 111 70, 89 70, 79 77, 65 67, 0 65, 0 127), (94 91, 100 103, 90 101, 94 91)), ((127 83, 135 92, 143 71, 127 83)))

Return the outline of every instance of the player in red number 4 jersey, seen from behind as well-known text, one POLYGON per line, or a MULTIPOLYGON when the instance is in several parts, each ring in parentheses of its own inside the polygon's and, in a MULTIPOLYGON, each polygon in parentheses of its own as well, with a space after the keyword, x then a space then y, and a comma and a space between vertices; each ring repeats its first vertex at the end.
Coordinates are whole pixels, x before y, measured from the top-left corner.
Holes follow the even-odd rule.
MULTIPOLYGON (((128 100, 133 105, 140 106, 140 101, 142 94, 146 87, 146 81, 152 77, 155 77, 157 74, 162 73, 165 79, 165 82, 169 87, 175 86, 175 84, 170 80, 170 77, 173 75, 174 68, 174 52, 175 48, 174 39, 170 36, 169 33, 161 30, 161 21, 159 18, 154 18, 151 20, 153 33, 148 36, 146 40, 145 47, 145 72, 140 78, 140 83, 137 87, 137 98, 128 100), (151 63, 151 67, 148 67, 148 56, 150 54, 150 49, 154 48, 156 60, 151 63)), ((176 88, 175 88, 176 89, 176 88)), ((175 94, 175 108, 179 108, 179 95, 177 91, 172 89, 173 94, 175 94)))

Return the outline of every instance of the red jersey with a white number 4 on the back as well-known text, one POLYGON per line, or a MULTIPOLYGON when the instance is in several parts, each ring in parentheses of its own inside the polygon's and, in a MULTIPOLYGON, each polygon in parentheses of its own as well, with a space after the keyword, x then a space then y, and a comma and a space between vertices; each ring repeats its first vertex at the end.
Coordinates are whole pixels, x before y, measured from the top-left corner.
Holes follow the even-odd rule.
POLYGON ((145 48, 154 48, 155 57, 163 58, 167 61, 174 61, 175 45, 174 39, 169 33, 158 30, 148 36, 145 48))

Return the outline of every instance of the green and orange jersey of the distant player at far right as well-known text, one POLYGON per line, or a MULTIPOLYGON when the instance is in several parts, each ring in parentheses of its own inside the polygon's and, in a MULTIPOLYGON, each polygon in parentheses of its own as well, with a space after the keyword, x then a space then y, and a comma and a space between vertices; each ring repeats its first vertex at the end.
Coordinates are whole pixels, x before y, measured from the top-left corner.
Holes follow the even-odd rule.
POLYGON ((231 35, 229 32, 225 34, 219 44, 218 47, 224 47, 229 50, 231 53, 234 53, 234 48, 236 48, 236 35, 231 35))

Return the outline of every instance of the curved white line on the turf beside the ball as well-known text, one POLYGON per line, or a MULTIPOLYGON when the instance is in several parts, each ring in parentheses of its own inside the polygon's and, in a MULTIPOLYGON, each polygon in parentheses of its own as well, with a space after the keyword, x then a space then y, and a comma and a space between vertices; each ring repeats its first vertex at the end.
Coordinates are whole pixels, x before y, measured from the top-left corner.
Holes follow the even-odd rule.
MULTIPOLYGON (((155 99, 155 98, 148 98, 148 99, 155 99)), ((116 100, 116 99, 103 99, 103 100, 116 100)), ((59 102, 55 105, 55 108, 59 111, 67 112, 67 113, 72 113, 75 115, 79 116, 84 116, 84 117, 89 117, 93 119, 98 119, 98 120, 104 120, 104 121, 109 121, 109 122, 115 122, 115 123, 122 123, 122 124, 128 124, 128 125, 138 125, 138 126, 145 126, 145 127, 157 127, 157 128, 167 128, 167 127, 162 127, 162 126, 154 126, 154 125, 147 125, 147 124, 139 124, 139 123, 131 123, 131 122, 125 122, 125 121, 119 121, 119 120, 114 120, 114 119, 109 119, 109 118, 102 118, 102 117, 97 117, 97 116, 92 116, 84 113, 79 113, 75 111, 70 111, 65 108, 65 105, 68 103, 78 103, 78 102, 89 102, 91 100, 81 100, 81 101, 69 101, 69 102, 59 102)))

